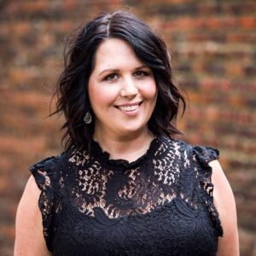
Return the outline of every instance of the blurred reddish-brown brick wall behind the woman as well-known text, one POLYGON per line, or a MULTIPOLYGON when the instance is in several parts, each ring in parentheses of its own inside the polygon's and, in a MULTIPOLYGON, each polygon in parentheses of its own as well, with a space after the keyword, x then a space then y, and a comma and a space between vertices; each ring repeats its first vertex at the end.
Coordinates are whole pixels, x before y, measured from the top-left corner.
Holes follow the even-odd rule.
POLYGON ((179 122, 183 139, 220 149, 236 196, 241 255, 255 255, 253 0, 0 2, 0 254, 12 255, 27 166, 61 151, 61 120, 44 118, 61 72, 64 37, 91 16, 114 9, 133 10, 168 42, 177 83, 190 101, 179 122))

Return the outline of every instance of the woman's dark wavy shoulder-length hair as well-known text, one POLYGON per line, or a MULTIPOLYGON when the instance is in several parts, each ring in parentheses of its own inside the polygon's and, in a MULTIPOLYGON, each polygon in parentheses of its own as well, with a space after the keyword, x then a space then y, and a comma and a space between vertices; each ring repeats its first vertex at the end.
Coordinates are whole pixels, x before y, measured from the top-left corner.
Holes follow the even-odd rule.
MULTIPOLYGON (((90 110, 88 81, 95 65, 96 50, 108 38, 119 38, 131 45, 138 59, 151 68, 158 88, 154 112, 148 129, 155 135, 173 137, 180 103, 183 113, 186 103, 181 90, 173 83, 170 54, 165 42, 137 16, 124 11, 103 14, 90 20, 73 35, 64 51, 64 70, 57 83, 56 110, 64 113, 61 130, 65 148, 89 149, 94 121, 84 124, 84 114, 90 110)), ((92 119, 94 120, 94 113, 92 119)))

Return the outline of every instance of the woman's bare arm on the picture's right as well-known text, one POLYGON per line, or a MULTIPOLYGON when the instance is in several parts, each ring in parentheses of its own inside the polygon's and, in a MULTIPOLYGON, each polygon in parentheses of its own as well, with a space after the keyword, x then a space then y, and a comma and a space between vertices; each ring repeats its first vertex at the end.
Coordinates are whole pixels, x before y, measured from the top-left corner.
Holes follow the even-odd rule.
POLYGON ((224 175, 218 160, 209 163, 212 167, 213 202, 217 207, 224 236, 218 239, 217 256, 239 255, 239 241, 236 218, 236 202, 230 183, 224 175))

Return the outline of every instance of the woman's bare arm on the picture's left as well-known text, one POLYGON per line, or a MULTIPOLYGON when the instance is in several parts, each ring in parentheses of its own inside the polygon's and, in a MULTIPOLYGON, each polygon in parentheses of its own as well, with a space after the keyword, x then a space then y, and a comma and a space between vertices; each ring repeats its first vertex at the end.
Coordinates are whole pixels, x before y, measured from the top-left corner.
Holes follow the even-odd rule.
POLYGON ((43 234, 42 215, 38 207, 41 191, 30 177, 16 214, 15 256, 49 256, 43 234))

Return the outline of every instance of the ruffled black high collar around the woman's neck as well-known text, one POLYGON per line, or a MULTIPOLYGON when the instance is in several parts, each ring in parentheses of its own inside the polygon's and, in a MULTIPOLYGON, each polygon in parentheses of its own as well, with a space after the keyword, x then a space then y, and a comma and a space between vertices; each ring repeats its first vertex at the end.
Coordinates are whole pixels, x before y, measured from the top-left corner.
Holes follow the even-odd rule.
POLYGON ((160 137, 157 136, 149 144, 149 148, 146 153, 138 157, 137 160, 133 160, 131 162, 124 159, 109 159, 110 154, 107 151, 103 151, 100 144, 94 140, 91 140, 90 151, 93 157, 98 160, 102 160, 107 166, 124 167, 129 169, 131 167, 139 166, 144 159, 148 158, 149 155, 154 154, 157 148, 159 148, 159 144, 160 137))

